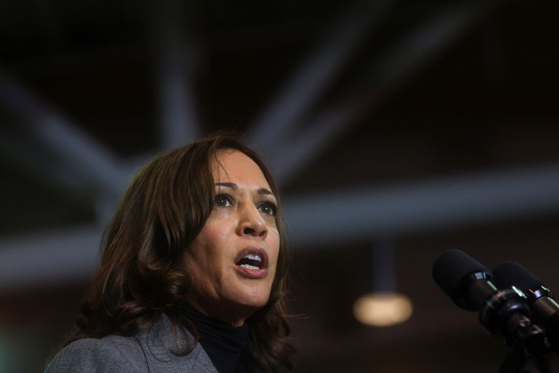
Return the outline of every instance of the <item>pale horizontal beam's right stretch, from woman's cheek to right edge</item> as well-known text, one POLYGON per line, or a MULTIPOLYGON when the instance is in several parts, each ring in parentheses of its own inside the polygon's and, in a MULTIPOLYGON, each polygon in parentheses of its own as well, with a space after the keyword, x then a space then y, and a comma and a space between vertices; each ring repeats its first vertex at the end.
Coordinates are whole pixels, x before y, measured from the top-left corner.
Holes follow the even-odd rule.
POLYGON ((295 250, 559 212, 559 165, 290 198, 295 250))

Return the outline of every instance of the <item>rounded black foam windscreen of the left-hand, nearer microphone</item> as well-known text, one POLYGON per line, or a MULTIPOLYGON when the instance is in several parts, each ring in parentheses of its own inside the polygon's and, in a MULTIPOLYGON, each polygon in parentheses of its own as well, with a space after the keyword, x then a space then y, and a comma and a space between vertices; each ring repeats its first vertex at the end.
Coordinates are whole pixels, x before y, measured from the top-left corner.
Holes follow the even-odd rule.
POLYGON ((458 305, 468 309, 464 302, 467 288, 464 288, 464 279, 472 273, 484 272, 491 279, 491 271, 483 264, 476 261, 464 251, 453 249, 444 251, 433 264, 433 279, 442 291, 458 305))

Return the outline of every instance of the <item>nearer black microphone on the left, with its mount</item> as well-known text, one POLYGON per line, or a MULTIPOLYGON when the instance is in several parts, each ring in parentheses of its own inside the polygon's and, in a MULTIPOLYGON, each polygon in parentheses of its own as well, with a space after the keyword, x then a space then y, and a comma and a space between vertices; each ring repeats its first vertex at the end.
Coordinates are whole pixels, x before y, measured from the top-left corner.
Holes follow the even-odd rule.
POLYGON ((509 344, 523 341, 534 353, 545 335, 530 321, 526 296, 517 288, 498 290, 488 268, 460 250, 445 251, 433 265, 433 279, 460 308, 479 312, 481 325, 509 344))

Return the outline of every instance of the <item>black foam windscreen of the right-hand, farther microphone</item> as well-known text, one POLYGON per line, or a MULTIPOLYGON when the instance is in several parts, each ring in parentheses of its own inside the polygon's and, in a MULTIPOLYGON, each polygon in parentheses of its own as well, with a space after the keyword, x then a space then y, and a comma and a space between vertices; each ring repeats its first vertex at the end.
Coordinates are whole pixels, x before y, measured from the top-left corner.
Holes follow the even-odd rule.
POLYGON ((530 290, 533 291, 542 286, 547 288, 543 281, 514 261, 503 262, 493 270, 493 283, 500 289, 516 286, 527 295, 530 290))

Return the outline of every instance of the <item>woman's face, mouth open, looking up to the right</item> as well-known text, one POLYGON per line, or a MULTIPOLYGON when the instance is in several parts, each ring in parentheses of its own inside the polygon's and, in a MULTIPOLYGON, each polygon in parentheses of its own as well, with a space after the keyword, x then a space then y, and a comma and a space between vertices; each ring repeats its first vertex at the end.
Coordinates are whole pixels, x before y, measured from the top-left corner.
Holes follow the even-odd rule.
POLYGON ((213 210, 185 253, 194 279, 187 300, 238 326, 270 297, 279 253, 276 199, 248 156, 224 149, 217 159, 213 210))

